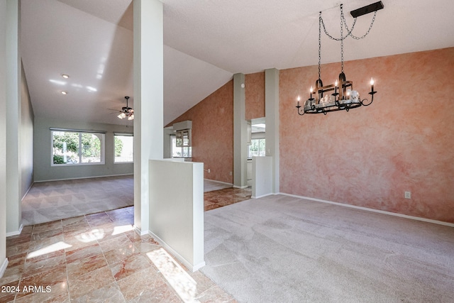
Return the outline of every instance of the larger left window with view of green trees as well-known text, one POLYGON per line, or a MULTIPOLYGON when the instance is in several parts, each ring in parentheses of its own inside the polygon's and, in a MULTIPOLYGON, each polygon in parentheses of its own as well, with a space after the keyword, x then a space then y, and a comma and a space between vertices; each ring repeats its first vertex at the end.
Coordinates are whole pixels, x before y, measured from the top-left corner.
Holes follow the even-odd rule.
POLYGON ((104 133, 52 130, 52 165, 104 164, 104 133))

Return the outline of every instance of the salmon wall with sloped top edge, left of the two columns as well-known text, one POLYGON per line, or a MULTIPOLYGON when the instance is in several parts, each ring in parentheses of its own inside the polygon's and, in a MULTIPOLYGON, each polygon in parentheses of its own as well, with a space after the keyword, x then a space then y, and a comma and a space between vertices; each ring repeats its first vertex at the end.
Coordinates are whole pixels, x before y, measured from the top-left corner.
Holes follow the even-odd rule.
POLYGON ((233 80, 169 123, 192 120, 192 160, 204 178, 233 183, 233 80))

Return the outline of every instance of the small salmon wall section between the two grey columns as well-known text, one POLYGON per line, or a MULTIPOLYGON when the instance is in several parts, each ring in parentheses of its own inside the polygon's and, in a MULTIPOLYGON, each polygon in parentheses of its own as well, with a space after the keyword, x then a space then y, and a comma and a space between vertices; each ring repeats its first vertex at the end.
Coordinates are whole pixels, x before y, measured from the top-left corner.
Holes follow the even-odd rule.
POLYGON ((244 76, 245 119, 265 116, 265 72, 255 72, 244 76))

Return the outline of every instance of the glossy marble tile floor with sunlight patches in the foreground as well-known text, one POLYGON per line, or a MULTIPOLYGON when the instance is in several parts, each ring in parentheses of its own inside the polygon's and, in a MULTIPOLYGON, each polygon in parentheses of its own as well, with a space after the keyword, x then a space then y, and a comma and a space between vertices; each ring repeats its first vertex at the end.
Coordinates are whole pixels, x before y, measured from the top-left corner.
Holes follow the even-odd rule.
POLYGON ((236 302, 132 224, 133 206, 26 226, 6 239, 0 302, 236 302))

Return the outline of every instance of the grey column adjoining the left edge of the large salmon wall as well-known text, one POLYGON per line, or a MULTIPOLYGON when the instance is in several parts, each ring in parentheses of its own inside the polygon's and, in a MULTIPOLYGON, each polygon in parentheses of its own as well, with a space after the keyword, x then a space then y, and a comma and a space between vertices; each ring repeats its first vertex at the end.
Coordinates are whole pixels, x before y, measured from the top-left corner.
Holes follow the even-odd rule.
POLYGON ((272 156, 272 190, 279 193, 279 70, 265 70, 266 155, 272 156))

